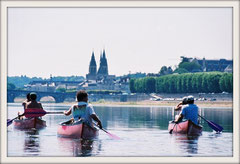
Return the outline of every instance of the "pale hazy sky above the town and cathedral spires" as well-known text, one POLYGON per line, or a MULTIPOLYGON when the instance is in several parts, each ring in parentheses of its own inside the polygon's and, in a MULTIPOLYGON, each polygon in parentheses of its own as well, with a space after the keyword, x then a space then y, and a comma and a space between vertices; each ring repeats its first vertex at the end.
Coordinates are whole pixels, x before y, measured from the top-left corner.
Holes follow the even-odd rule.
POLYGON ((8 76, 157 73, 180 56, 232 59, 231 8, 9 8, 8 76))

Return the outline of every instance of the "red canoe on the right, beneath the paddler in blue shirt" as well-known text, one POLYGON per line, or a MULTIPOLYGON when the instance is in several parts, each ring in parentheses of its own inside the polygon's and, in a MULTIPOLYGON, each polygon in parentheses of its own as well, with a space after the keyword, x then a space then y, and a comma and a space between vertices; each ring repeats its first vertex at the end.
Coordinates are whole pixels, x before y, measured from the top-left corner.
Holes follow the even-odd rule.
POLYGON ((170 121, 168 124, 168 131, 172 129, 173 133, 181 133, 187 135, 201 135, 202 126, 194 124, 191 120, 185 120, 176 124, 173 121, 170 121))

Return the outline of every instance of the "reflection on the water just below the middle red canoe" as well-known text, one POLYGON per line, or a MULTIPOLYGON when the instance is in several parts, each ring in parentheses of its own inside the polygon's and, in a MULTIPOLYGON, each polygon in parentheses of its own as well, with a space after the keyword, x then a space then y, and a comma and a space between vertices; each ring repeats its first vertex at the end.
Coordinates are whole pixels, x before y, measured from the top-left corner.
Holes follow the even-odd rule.
POLYGON ((97 155, 101 151, 101 141, 58 137, 62 151, 72 152, 74 157, 97 155))

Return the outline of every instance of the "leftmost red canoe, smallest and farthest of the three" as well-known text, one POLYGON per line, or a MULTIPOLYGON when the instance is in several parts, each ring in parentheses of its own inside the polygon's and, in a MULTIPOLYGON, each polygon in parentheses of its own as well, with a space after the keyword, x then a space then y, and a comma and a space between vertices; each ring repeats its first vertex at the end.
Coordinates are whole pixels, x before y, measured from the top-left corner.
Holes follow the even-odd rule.
POLYGON ((25 119, 16 119, 13 122, 13 125, 17 129, 42 129, 46 127, 46 121, 38 118, 38 117, 32 117, 32 118, 25 118, 25 119))

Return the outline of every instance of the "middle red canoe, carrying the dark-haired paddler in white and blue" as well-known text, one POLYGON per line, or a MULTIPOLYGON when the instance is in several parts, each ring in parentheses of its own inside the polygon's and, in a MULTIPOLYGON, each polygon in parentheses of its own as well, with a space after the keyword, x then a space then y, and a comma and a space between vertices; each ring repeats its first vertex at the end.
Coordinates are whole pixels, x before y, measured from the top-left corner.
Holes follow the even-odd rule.
POLYGON ((83 123, 81 120, 71 123, 62 122, 58 126, 58 136, 69 138, 94 139, 98 136, 98 129, 83 123))

